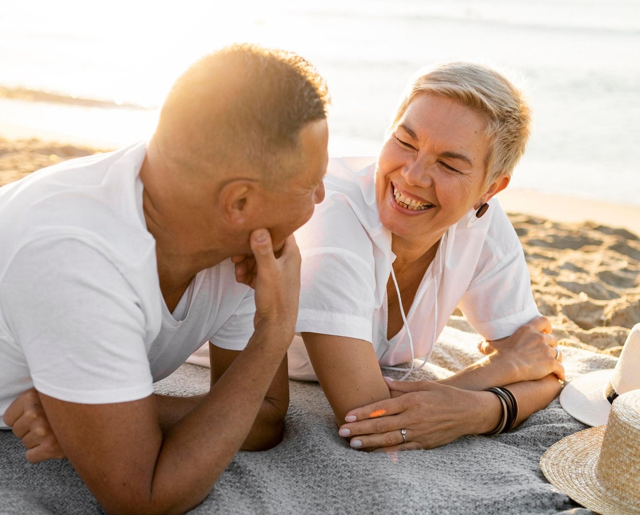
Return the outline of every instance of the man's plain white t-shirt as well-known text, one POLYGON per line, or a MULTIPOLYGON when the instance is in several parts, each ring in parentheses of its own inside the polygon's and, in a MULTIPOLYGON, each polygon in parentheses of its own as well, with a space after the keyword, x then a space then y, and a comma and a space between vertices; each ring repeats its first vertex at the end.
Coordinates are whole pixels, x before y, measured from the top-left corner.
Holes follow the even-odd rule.
POLYGON ((31 386, 68 402, 141 399, 207 340, 241 350, 251 337, 253 296, 230 260, 166 307, 144 157, 138 143, 0 188, 0 417, 31 386))

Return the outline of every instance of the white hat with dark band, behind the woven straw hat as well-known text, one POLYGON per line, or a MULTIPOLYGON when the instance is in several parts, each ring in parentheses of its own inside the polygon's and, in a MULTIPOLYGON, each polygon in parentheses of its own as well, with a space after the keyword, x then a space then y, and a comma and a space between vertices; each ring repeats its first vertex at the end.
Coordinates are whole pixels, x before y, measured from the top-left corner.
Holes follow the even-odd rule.
POLYGON ((625 392, 640 388, 640 324, 636 324, 622 348, 616 368, 589 372, 567 383, 560 405, 587 425, 607 424, 611 402, 625 392))

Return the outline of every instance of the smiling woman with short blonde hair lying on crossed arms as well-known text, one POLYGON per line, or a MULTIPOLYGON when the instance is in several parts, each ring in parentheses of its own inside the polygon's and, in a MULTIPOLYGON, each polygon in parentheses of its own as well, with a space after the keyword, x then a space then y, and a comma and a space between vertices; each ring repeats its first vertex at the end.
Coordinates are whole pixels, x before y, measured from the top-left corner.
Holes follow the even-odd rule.
POLYGON ((330 163, 326 198, 296 233, 296 329, 308 356, 294 341, 289 370, 317 377, 351 447, 431 448, 505 431, 559 392, 557 340, 492 200, 524 152, 529 121, 502 75, 449 63, 413 81, 374 165, 330 163), (381 365, 428 359, 456 306, 488 340, 488 357, 445 381, 385 379, 381 365))

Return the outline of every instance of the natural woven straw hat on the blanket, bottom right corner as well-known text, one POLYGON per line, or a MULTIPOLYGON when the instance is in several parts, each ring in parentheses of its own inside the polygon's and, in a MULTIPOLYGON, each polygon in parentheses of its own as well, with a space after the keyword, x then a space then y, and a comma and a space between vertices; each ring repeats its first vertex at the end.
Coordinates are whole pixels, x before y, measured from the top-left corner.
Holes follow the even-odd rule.
POLYGON ((607 425, 554 443, 540 468, 550 483, 591 511, 640 514, 640 390, 614 400, 607 425))

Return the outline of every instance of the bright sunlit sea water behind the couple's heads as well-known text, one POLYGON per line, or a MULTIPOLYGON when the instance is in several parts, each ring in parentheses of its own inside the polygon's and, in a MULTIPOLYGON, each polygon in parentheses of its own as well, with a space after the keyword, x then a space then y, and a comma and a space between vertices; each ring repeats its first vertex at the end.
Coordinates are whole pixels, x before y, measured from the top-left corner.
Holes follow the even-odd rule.
POLYGON ((525 84, 534 133, 512 186, 640 205, 636 0, 164 5, 3 0, 0 88, 67 102, 0 99, 0 133, 38 128, 109 145, 145 138, 180 71, 212 49, 250 41, 299 52, 326 77, 332 155, 375 155, 413 72, 466 59, 525 84))

